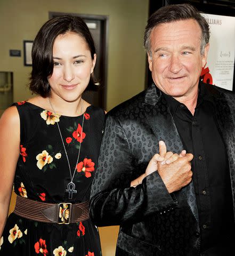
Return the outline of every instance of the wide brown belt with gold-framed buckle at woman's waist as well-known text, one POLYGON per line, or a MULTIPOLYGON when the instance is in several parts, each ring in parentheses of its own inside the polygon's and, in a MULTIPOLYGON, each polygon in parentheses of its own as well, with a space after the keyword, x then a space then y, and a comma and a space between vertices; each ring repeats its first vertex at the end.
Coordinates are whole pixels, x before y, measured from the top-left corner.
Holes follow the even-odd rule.
POLYGON ((88 204, 89 201, 78 204, 52 204, 17 196, 13 213, 30 220, 69 224, 90 218, 88 204))

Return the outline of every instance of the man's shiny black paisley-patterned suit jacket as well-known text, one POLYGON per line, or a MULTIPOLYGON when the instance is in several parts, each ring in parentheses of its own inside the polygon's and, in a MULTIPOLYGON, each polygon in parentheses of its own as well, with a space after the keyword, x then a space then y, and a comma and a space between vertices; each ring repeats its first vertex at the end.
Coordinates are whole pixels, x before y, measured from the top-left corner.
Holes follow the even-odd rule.
MULTIPOLYGON (((235 97, 214 85, 201 86, 206 86, 216 104, 215 117, 227 149, 234 199, 235 97)), ((193 182, 170 195, 156 171, 142 184, 130 187, 158 152, 159 140, 165 141, 168 151, 183 150, 166 101, 154 84, 107 114, 90 215, 97 226, 120 225, 118 256, 198 255, 193 182)))

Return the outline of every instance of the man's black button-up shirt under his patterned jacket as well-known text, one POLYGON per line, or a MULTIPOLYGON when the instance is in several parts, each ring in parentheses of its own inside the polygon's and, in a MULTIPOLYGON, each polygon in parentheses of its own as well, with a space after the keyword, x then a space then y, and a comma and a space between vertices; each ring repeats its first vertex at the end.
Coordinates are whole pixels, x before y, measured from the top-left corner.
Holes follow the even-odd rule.
POLYGON ((228 157, 213 115, 216 106, 203 85, 200 87, 194 115, 173 97, 164 93, 163 97, 184 149, 194 156, 192 179, 200 222, 200 251, 215 253, 205 255, 222 255, 218 253, 218 247, 228 247, 229 240, 233 239, 231 233, 235 233, 235 229, 228 157))

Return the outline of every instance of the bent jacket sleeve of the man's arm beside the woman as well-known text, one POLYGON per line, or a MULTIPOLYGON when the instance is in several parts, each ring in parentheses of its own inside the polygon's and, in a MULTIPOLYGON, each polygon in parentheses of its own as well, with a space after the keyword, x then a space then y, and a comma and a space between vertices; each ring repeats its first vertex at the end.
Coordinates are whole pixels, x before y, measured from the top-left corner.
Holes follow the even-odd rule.
POLYGON ((134 157, 125 131, 118 120, 108 115, 101 144, 99 165, 92 183, 90 216, 97 226, 139 222, 150 214, 172 209, 177 203, 168 193, 158 172, 130 187, 134 157))

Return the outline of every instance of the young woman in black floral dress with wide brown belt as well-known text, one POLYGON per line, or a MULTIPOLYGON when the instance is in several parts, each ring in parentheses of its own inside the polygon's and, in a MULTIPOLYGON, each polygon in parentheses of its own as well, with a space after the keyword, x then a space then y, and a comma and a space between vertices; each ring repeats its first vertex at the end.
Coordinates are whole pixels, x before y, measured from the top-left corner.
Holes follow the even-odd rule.
POLYGON ((84 21, 40 28, 30 90, 0 121, 0 255, 101 255, 88 214, 104 111, 82 99, 94 87, 95 46, 84 21), (17 194, 7 219, 12 184, 17 194))

